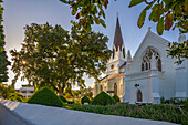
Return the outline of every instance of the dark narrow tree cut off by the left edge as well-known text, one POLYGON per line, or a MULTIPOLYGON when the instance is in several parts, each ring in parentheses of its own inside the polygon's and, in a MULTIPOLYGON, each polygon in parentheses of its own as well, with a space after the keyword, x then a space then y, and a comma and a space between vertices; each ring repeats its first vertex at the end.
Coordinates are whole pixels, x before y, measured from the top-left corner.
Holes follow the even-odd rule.
POLYGON ((8 56, 4 51, 4 34, 3 34, 3 25, 2 25, 2 0, 0 0, 0 83, 8 81, 8 65, 10 62, 8 61, 8 56))

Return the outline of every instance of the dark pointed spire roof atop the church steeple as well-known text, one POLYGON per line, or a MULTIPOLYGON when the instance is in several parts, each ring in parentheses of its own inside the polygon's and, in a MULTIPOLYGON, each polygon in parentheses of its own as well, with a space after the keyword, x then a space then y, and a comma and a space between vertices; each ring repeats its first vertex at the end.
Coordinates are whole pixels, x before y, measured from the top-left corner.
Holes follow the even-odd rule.
POLYGON ((122 31, 121 31, 121 25, 118 22, 118 17, 117 17, 117 21, 116 21, 116 29, 115 29, 115 37, 114 37, 114 45, 116 48, 116 51, 118 50, 118 48, 122 51, 122 45, 123 45, 123 37, 122 37, 122 31))

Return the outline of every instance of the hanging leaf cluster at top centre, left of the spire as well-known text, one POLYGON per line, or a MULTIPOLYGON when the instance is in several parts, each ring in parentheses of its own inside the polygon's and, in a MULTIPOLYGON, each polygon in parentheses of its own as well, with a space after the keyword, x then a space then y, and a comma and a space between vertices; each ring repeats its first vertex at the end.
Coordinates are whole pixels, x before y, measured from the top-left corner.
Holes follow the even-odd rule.
POLYGON ((108 0, 60 0, 71 6, 72 15, 79 20, 80 27, 91 30, 91 24, 102 24, 106 28, 104 22, 105 12, 108 0))

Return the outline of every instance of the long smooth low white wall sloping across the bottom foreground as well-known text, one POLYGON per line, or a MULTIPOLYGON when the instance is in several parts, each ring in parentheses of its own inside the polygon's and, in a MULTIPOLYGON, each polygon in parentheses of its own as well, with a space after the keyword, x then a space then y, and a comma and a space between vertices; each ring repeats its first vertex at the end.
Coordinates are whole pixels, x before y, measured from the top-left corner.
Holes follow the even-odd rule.
MULTIPOLYGON (((0 100, 0 103, 23 118, 28 125, 175 125, 167 122, 102 115, 12 101, 0 100)), ((10 117, 7 118, 11 121, 10 117)))

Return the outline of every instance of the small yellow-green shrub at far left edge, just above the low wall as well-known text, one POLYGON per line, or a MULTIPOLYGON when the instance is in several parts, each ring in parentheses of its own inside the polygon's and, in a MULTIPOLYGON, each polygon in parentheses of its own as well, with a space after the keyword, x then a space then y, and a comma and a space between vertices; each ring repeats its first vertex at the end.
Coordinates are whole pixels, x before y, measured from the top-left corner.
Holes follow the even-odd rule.
POLYGON ((15 90, 13 86, 9 85, 8 87, 4 86, 3 84, 0 84, 0 96, 3 98, 8 98, 11 93, 14 93, 15 90))

